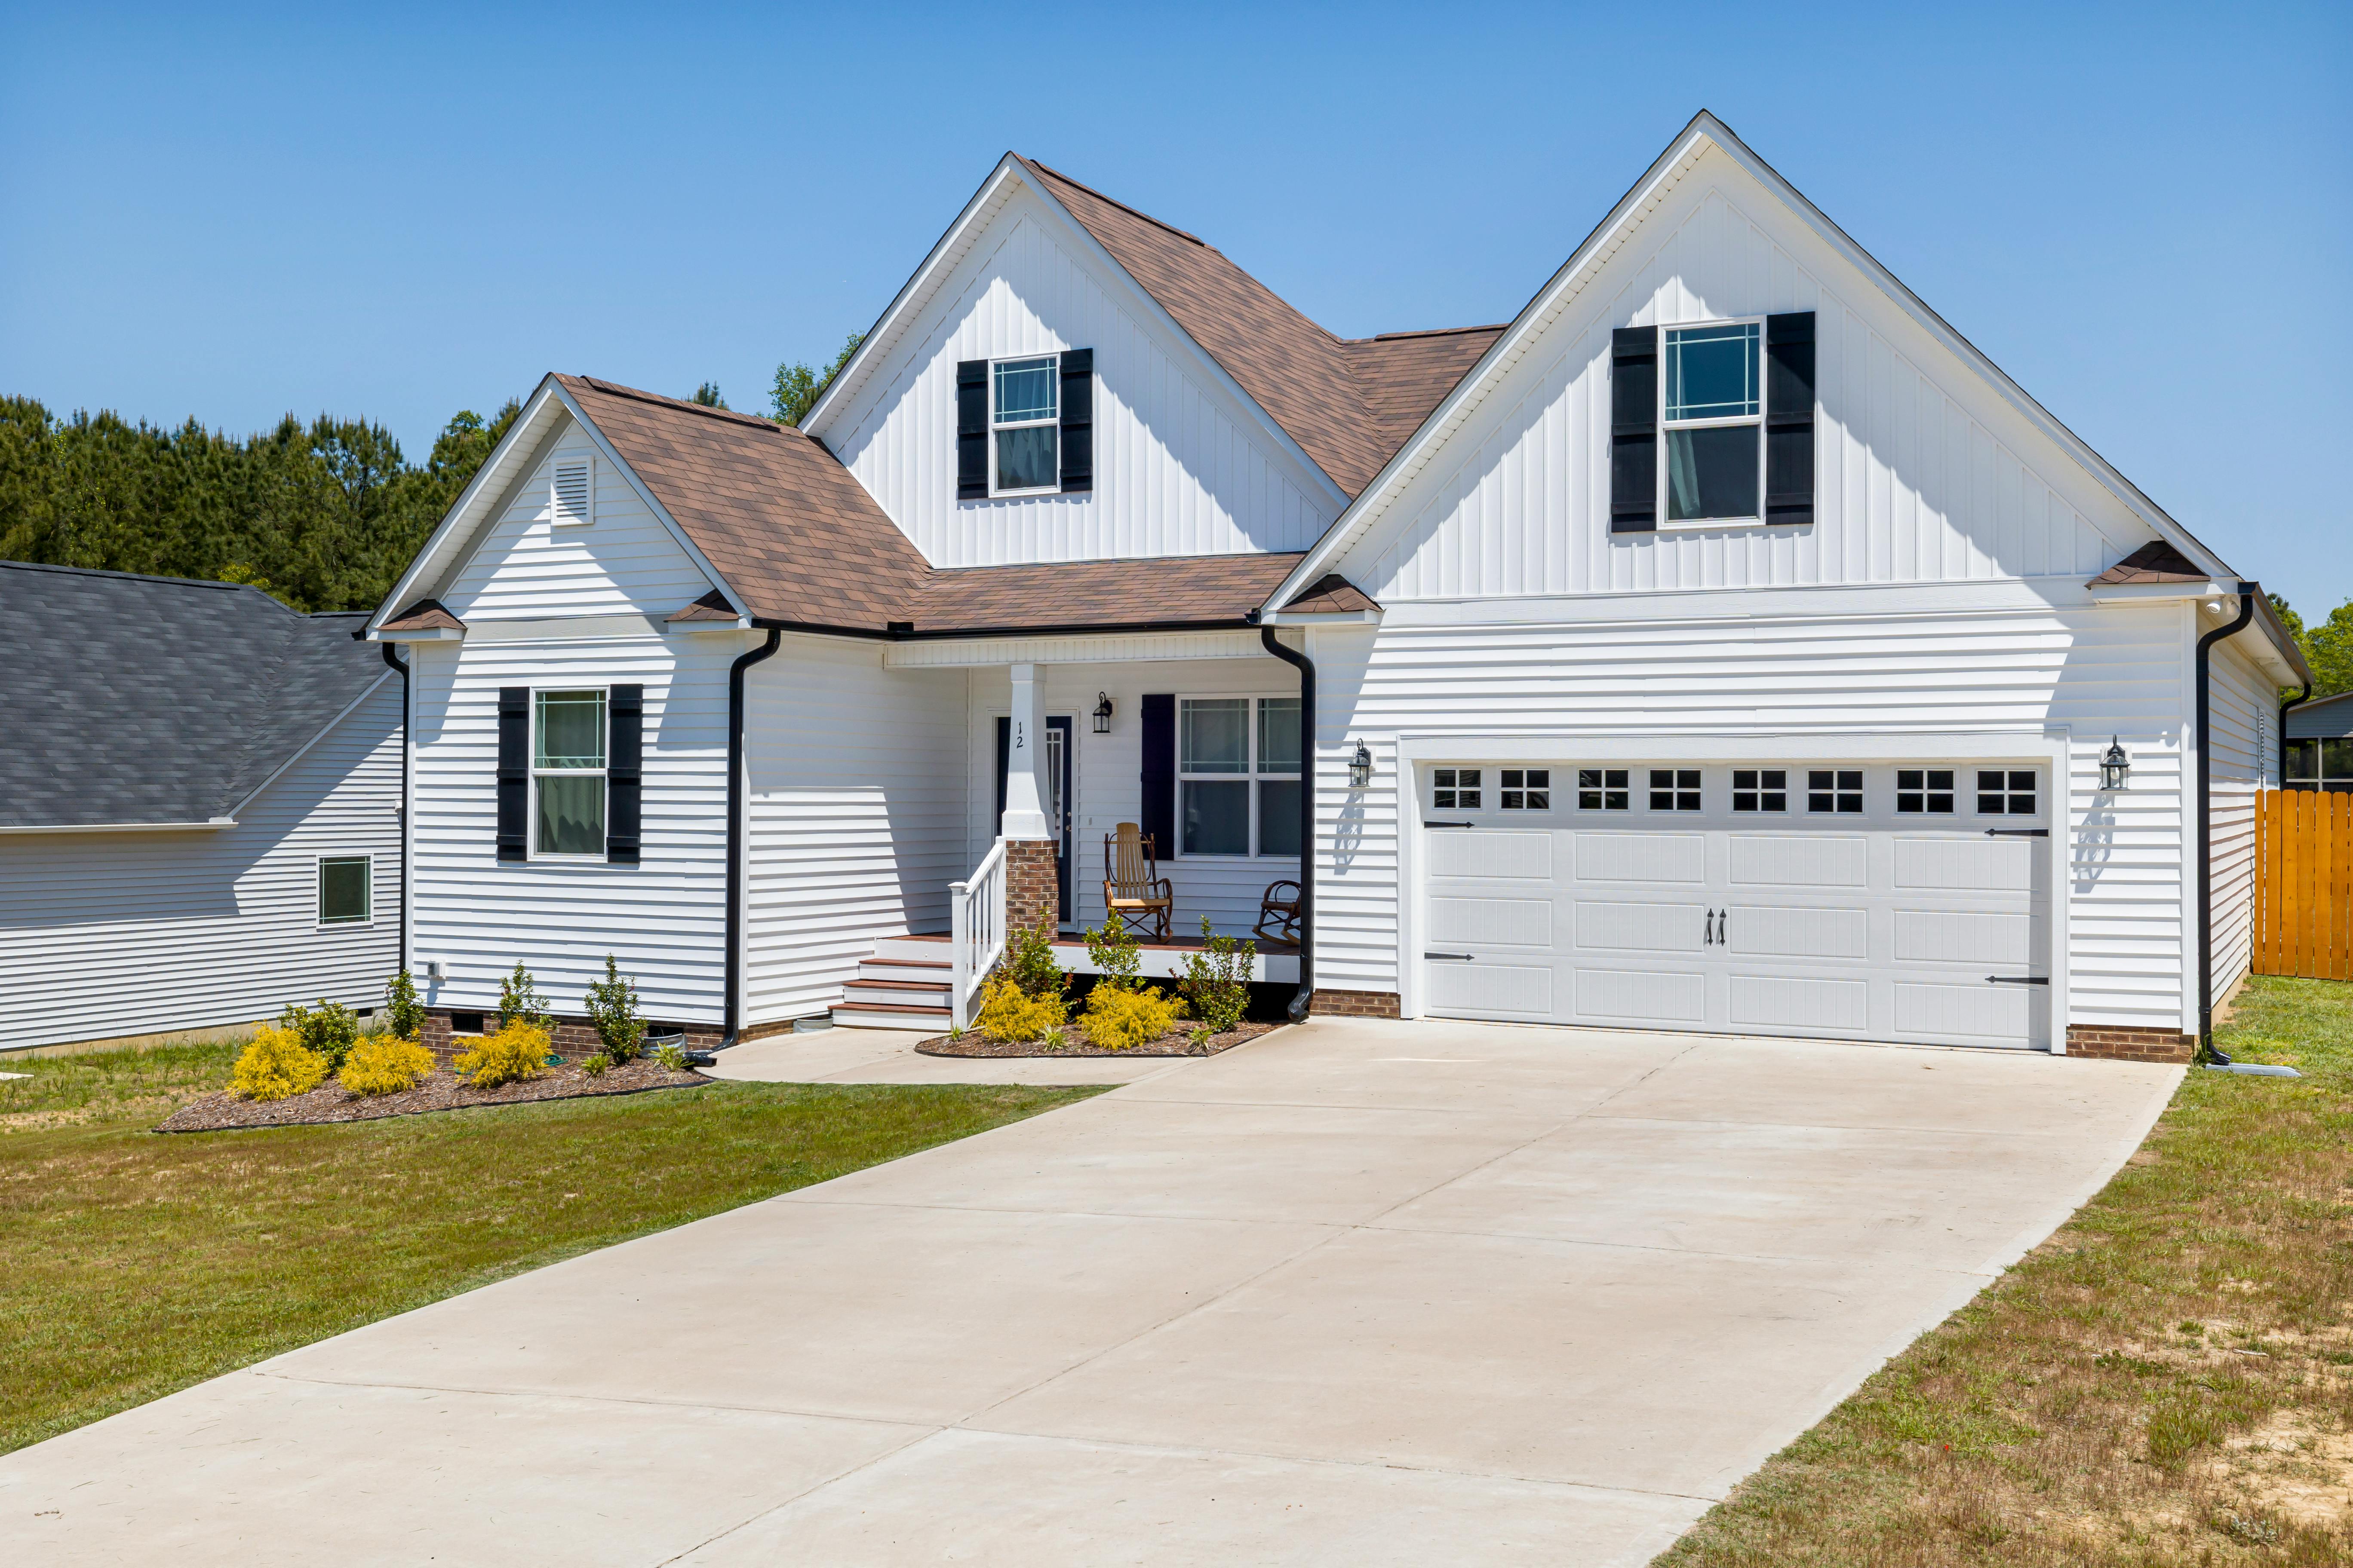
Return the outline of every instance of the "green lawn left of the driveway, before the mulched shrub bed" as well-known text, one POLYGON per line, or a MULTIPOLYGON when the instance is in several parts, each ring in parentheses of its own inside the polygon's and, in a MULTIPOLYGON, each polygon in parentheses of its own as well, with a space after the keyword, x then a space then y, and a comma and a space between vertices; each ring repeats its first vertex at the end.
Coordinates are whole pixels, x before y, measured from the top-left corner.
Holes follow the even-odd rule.
POLYGON ((711 1084, 151 1133, 235 1046, 9 1060, 0 1453, 456 1291, 1082 1100, 711 1084))

